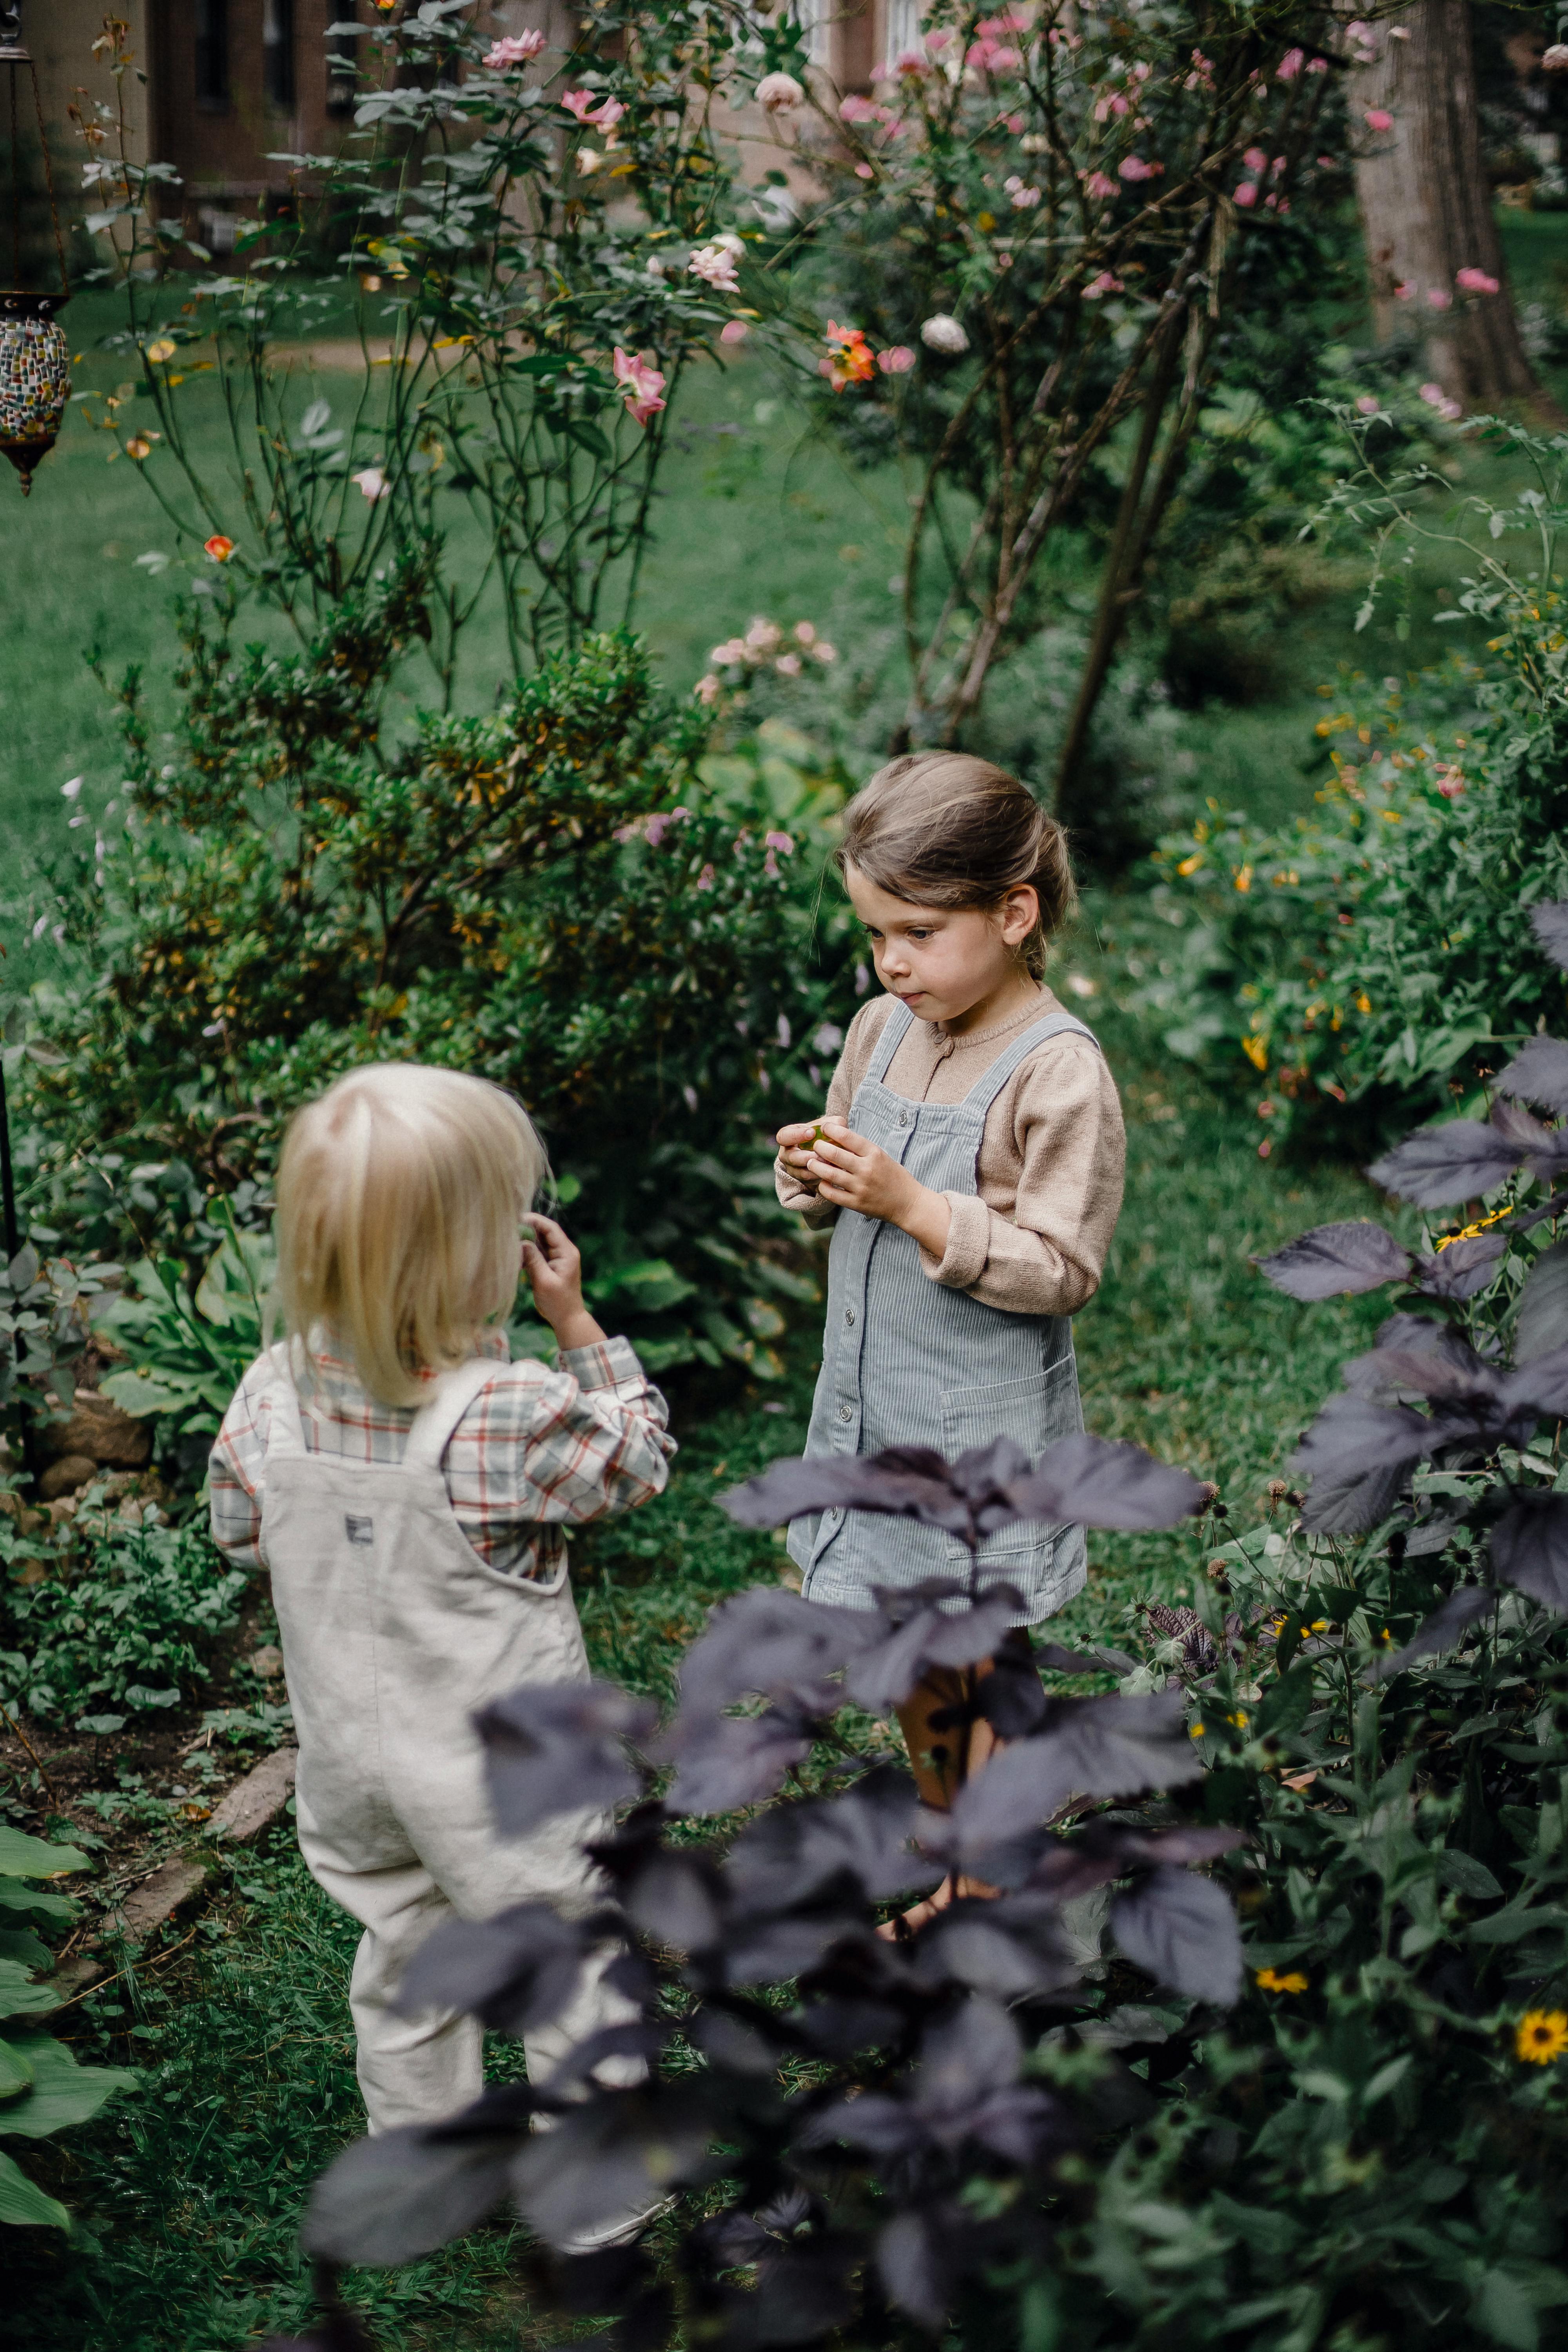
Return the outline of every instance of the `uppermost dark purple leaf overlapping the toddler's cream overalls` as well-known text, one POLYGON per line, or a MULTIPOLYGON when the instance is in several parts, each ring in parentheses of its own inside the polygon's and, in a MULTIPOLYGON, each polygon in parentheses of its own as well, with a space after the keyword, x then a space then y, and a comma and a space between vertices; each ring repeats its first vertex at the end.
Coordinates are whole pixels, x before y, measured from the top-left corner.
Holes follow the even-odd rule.
POLYGON ((529 1682, 491 1700, 475 1722, 496 1823, 531 1837, 555 1813, 602 1811, 635 1797, 625 1752, 654 1729, 658 1708, 611 1682, 529 1682))

